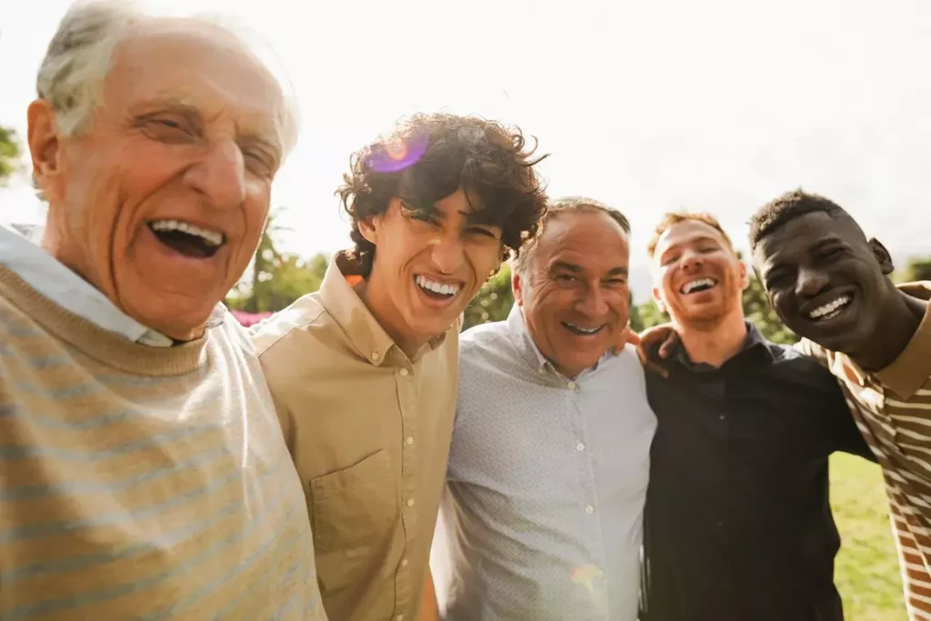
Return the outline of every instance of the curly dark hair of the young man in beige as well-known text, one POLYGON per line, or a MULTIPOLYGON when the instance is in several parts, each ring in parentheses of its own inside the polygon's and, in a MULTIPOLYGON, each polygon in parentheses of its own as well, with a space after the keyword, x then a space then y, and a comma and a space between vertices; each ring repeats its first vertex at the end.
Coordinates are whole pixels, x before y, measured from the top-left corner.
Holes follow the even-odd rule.
POLYGON ((546 155, 534 157, 536 148, 519 128, 478 116, 417 114, 400 121, 352 155, 336 191, 352 220, 355 248, 346 254, 354 272, 368 277, 375 257, 360 222, 383 215, 392 198, 405 209, 429 211, 460 188, 477 222, 501 228, 503 258, 517 256, 546 212, 546 188, 533 169, 546 155))

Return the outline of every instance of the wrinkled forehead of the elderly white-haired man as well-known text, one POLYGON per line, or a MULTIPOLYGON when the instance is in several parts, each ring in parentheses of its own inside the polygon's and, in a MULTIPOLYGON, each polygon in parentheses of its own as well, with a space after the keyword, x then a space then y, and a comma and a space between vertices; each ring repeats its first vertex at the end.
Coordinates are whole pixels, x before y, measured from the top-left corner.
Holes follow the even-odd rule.
POLYGON ((129 109, 150 101, 179 101, 207 120, 226 115, 283 143, 282 88, 249 47, 220 26, 173 18, 130 29, 115 49, 104 102, 129 109))

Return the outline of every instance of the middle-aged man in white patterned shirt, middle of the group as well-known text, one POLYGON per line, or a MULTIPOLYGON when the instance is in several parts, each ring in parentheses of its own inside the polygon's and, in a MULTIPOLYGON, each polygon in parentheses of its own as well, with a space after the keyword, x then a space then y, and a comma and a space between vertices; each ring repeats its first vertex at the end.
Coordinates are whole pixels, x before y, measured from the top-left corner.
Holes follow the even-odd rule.
POLYGON ((446 619, 637 618, 656 423, 636 354, 612 353, 629 230, 598 201, 557 201, 519 254, 510 316, 462 335, 433 554, 446 619))

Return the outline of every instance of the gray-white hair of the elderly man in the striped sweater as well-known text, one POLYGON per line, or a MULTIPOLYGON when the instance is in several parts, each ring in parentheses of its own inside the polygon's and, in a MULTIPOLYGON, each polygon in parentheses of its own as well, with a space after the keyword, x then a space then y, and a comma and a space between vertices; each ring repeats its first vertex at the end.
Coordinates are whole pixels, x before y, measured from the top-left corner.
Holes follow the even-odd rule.
MULTIPOLYGON (((62 134, 73 135, 85 128, 88 118, 101 104, 103 83, 117 44, 131 26, 151 17, 141 3, 128 0, 78 0, 68 9, 48 44, 36 78, 38 97, 55 109, 62 134)), ((214 16, 195 19, 236 36, 277 77, 285 98, 282 138, 287 155, 297 142, 297 105, 287 75, 277 61, 268 58, 270 48, 257 45, 254 34, 236 27, 229 19, 214 16), (259 53, 258 47, 263 47, 265 53, 259 53)))

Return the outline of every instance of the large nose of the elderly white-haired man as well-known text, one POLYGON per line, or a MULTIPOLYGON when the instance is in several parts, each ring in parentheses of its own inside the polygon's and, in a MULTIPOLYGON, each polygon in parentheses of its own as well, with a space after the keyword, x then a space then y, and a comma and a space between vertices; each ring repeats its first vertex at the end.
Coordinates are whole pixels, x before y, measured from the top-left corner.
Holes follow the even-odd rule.
POLYGON ((236 208, 246 199, 245 164, 242 152, 232 140, 212 144, 186 176, 187 182, 215 208, 236 208))

